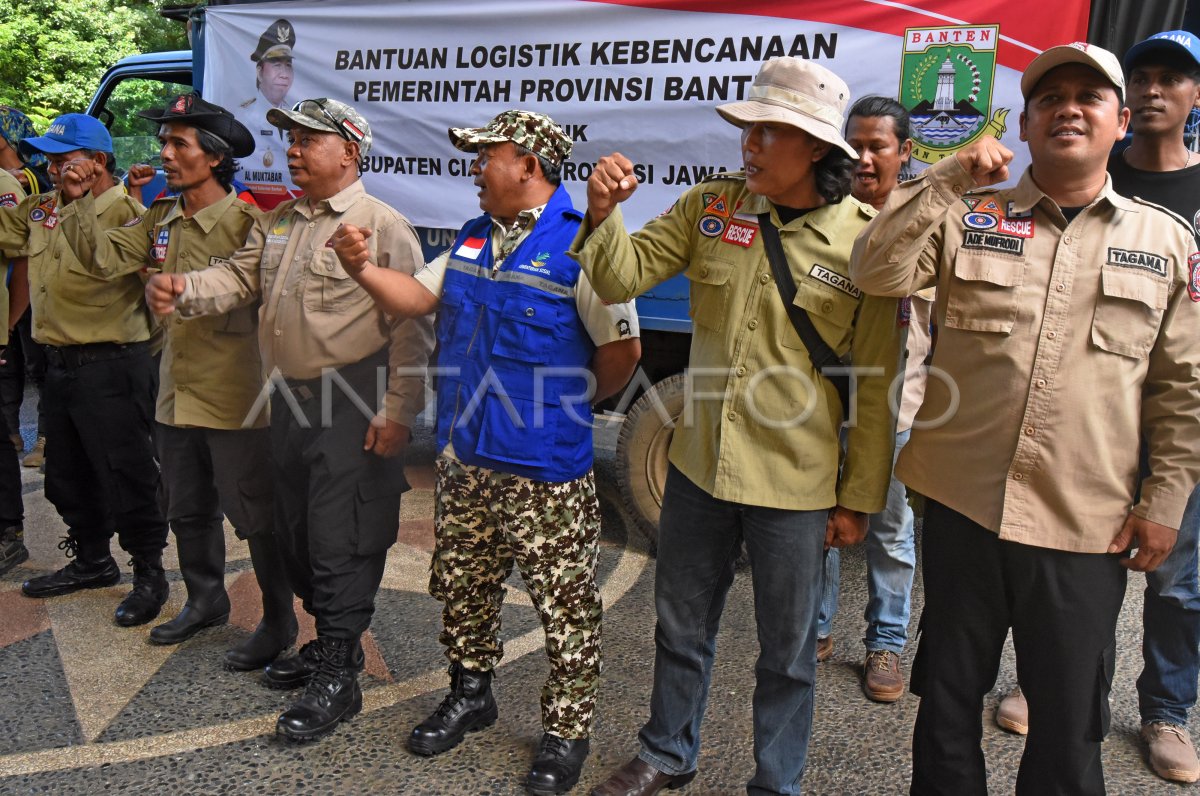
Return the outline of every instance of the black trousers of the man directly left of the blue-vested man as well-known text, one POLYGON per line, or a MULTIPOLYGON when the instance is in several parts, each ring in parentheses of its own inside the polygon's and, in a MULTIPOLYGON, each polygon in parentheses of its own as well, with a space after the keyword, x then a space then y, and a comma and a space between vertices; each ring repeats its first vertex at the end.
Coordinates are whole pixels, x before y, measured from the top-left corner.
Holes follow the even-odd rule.
POLYGON ((371 626, 388 547, 400 532, 403 459, 364 450, 386 353, 271 396, 275 532, 293 592, 317 634, 355 639, 371 626), (361 403, 359 403, 361 401, 361 403))

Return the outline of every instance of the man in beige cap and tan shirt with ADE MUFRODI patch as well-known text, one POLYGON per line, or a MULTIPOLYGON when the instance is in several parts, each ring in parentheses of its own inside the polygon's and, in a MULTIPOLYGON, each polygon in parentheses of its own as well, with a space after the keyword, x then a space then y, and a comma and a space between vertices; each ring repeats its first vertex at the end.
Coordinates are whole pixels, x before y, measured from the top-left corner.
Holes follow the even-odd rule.
POLYGON ((1021 76, 1015 187, 992 187, 1013 154, 985 136, 896 187, 854 244, 864 291, 937 287, 946 377, 896 462, 926 497, 913 794, 988 792, 980 714, 1009 629, 1016 792, 1104 792, 1126 575, 1163 563, 1200 480, 1200 253, 1189 222, 1112 188, 1124 91, 1112 53, 1046 49, 1021 76))

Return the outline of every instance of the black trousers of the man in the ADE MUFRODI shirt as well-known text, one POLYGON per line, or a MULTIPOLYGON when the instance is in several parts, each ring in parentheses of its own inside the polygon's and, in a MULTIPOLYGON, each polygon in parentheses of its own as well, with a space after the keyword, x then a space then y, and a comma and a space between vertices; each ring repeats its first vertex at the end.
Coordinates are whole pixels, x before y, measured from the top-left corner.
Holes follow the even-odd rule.
POLYGON ((1016 792, 1104 794, 1100 742, 1126 591, 1121 558, 1002 541, 926 503, 912 794, 986 795, 980 713, 1009 627, 1030 705, 1016 792))

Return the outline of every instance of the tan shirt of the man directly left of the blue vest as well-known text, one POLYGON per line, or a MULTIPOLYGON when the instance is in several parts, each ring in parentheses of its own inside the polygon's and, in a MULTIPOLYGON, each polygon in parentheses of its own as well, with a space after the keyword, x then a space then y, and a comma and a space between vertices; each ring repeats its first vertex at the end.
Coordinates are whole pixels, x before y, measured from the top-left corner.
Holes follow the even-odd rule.
POLYGON ((379 268, 412 275, 422 263, 408 220, 355 181, 329 199, 294 199, 262 215, 228 262, 187 274, 175 306, 185 317, 221 315, 262 298, 263 367, 286 378, 318 378, 323 369, 352 365, 388 346, 383 411, 410 426, 425 406, 432 316, 385 316, 325 245, 340 223, 371 229, 371 262, 379 268))

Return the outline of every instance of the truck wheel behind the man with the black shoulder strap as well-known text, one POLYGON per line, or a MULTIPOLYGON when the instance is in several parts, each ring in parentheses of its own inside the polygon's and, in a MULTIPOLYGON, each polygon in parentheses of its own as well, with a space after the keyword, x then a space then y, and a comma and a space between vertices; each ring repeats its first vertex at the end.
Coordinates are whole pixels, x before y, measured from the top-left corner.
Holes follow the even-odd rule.
POLYGON ((634 402, 617 435, 617 486, 652 551, 659 541, 667 449, 676 420, 683 414, 685 389, 683 373, 662 379, 634 402))

